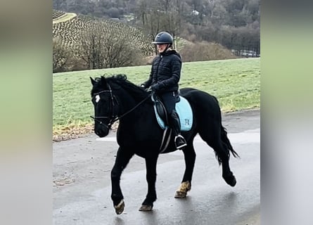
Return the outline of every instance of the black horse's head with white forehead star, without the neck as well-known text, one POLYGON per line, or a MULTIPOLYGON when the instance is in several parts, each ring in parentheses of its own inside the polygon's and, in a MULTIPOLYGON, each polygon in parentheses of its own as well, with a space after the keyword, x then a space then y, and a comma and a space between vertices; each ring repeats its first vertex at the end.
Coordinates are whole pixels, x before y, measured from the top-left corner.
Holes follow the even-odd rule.
POLYGON ((105 77, 91 78, 91 101, 94 104, 94 132, 96 135, 107 136, 110 127, 117 118, 117 100, 112 93, 110 84, 105 77))

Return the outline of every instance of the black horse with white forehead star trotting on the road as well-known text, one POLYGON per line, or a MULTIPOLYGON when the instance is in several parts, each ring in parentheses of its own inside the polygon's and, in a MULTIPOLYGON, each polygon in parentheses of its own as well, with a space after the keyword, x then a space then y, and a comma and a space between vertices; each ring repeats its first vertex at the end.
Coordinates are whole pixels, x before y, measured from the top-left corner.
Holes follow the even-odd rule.
MULTIPOLYGON (((146 160, 146 180, 148 193, 140 207, 140 211, 150 211, 156 200, 155 180, 156 165, 160 154, 160 143, 163 130, 158 125, 153 111, 151 92, 141 89, 127 80, 126 75, 113 77, 91 78, 91 98, 94 104, 94 131, 100 136, 108 135, 110 126, 120 120, 117 129, 117 151, 115 165, 111 171, 112 195, 115 212, 121 214, 124 210, 124 200, 120 188, 120 176, 123 169, 134 154, 146 160)), ((184 148, 186 169, 181 185, 175 198, 185 198, 191 189, 193 167, 196 153, 193 139, 196 134, 215 150, 219 165, 222 164, 222 177, 230 186, 236 185, 236 178, 229 168, 229 152, 238 157, 227 138, 226 129, 222 126, 221 111, 217 98, 197 89, 181 89, 193 110, 193 125, 190 131, 183 131, 187 141, 184 148)), ((173 139, 162 153, 176 150, 173 139)))

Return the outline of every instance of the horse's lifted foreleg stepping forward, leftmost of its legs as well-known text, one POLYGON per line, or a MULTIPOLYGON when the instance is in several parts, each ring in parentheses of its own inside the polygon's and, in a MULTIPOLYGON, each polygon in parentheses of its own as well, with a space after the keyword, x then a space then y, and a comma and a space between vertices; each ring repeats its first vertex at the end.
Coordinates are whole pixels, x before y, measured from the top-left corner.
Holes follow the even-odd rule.
POLYGON ((117 151, 115 164, 111 171, 111 199, 113 200, 113 205, 117 214, 121 214, 124 211, 124 197, 120 188, 120 176, 123 169, 127 166, 129 160, 132 158, 133 155, 134 153, 130 153, 127 150, 122 150, 122 148, 119 148, 119 150, 117 151))

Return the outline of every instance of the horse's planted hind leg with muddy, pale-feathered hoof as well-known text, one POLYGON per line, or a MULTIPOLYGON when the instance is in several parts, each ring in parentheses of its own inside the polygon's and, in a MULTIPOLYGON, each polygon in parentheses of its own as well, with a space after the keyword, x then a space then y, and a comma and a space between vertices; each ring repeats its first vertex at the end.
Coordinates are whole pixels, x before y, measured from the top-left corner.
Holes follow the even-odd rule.
POLYGON ((183 150, 185 158, 185 173, 181 185, 175 193, 175 198, 185 198, 187 192, 191 190, 191 179, 193 175, 193 167, 196 161, 196 153, 193 148, 193 140, 187 143, 187 146, 183 150))

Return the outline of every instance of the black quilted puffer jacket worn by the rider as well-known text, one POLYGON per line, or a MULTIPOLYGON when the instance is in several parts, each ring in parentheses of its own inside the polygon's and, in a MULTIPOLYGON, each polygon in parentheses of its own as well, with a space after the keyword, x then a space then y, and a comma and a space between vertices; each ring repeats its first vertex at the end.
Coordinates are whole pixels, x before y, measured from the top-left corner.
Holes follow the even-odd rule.
POLYGON ((143 83, 145 88, 153 86, 158 93, 177 91, 181 76, 181 56, 175 50, 160 53, 153 58, 149 79, 143 83))

